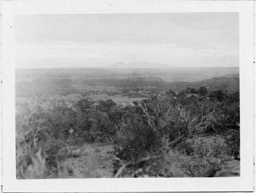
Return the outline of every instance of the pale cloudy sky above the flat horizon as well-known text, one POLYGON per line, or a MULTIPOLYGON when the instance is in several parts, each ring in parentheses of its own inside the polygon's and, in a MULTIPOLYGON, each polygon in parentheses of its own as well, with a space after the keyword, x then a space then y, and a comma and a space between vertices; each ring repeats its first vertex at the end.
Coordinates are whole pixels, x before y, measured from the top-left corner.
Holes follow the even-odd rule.
POLYGON ((17 15, 16 68, 239 66, 239 15, 17 15))

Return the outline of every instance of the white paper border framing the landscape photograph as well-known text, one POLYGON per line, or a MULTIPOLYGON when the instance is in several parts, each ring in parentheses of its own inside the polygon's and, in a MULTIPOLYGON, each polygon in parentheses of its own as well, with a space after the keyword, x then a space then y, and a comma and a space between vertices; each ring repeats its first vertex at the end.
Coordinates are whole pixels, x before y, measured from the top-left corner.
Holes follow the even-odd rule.
POLYGON ((253 190, 253 1, 2 1, 3 192, 253 190), (241 176, 17 180, 15 166, 16 14, 239 12, 241 176))

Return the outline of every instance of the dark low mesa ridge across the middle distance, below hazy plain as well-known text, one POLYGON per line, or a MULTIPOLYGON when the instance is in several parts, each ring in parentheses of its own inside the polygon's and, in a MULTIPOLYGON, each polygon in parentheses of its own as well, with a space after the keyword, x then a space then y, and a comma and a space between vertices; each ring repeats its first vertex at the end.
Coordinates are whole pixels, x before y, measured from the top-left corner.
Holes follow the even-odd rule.
POLYGON ((167 82, 158 77, 134 77, 126 79, 35 79, 33 81, 20 81, 16 87, 52 87, 69 85, 115 86, 123 88, 151 87, 160 90, 183 90, 185 88, 207 87, 209 91, 223 90, 228 92, 239 91, 239 75, 226 75, 218 78, 191 82, 167 82))

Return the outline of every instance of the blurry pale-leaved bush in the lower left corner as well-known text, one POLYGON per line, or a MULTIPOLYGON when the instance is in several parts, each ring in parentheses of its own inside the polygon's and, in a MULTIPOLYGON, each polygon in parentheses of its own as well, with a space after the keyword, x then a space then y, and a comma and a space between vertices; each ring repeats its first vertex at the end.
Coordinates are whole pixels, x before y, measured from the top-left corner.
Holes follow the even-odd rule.
POLYGON ((52 137, 49 114, 39 106, 16 103, 16 177, 50 178, 60 175, 65 146, 52 137))

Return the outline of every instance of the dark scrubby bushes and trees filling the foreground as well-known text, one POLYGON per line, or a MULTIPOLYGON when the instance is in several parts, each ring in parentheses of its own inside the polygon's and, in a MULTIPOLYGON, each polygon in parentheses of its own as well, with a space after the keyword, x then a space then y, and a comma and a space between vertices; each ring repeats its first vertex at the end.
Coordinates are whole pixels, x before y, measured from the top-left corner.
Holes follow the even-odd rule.
POLYGON ((205 87, 162 91, 126 106, 17 102, 16 176, 75 178, 66 160, 84 143, 113 147, 112 177, 236 176, 239 168, 229 165, 240 160, 239 104, 239 92, 205 87))

